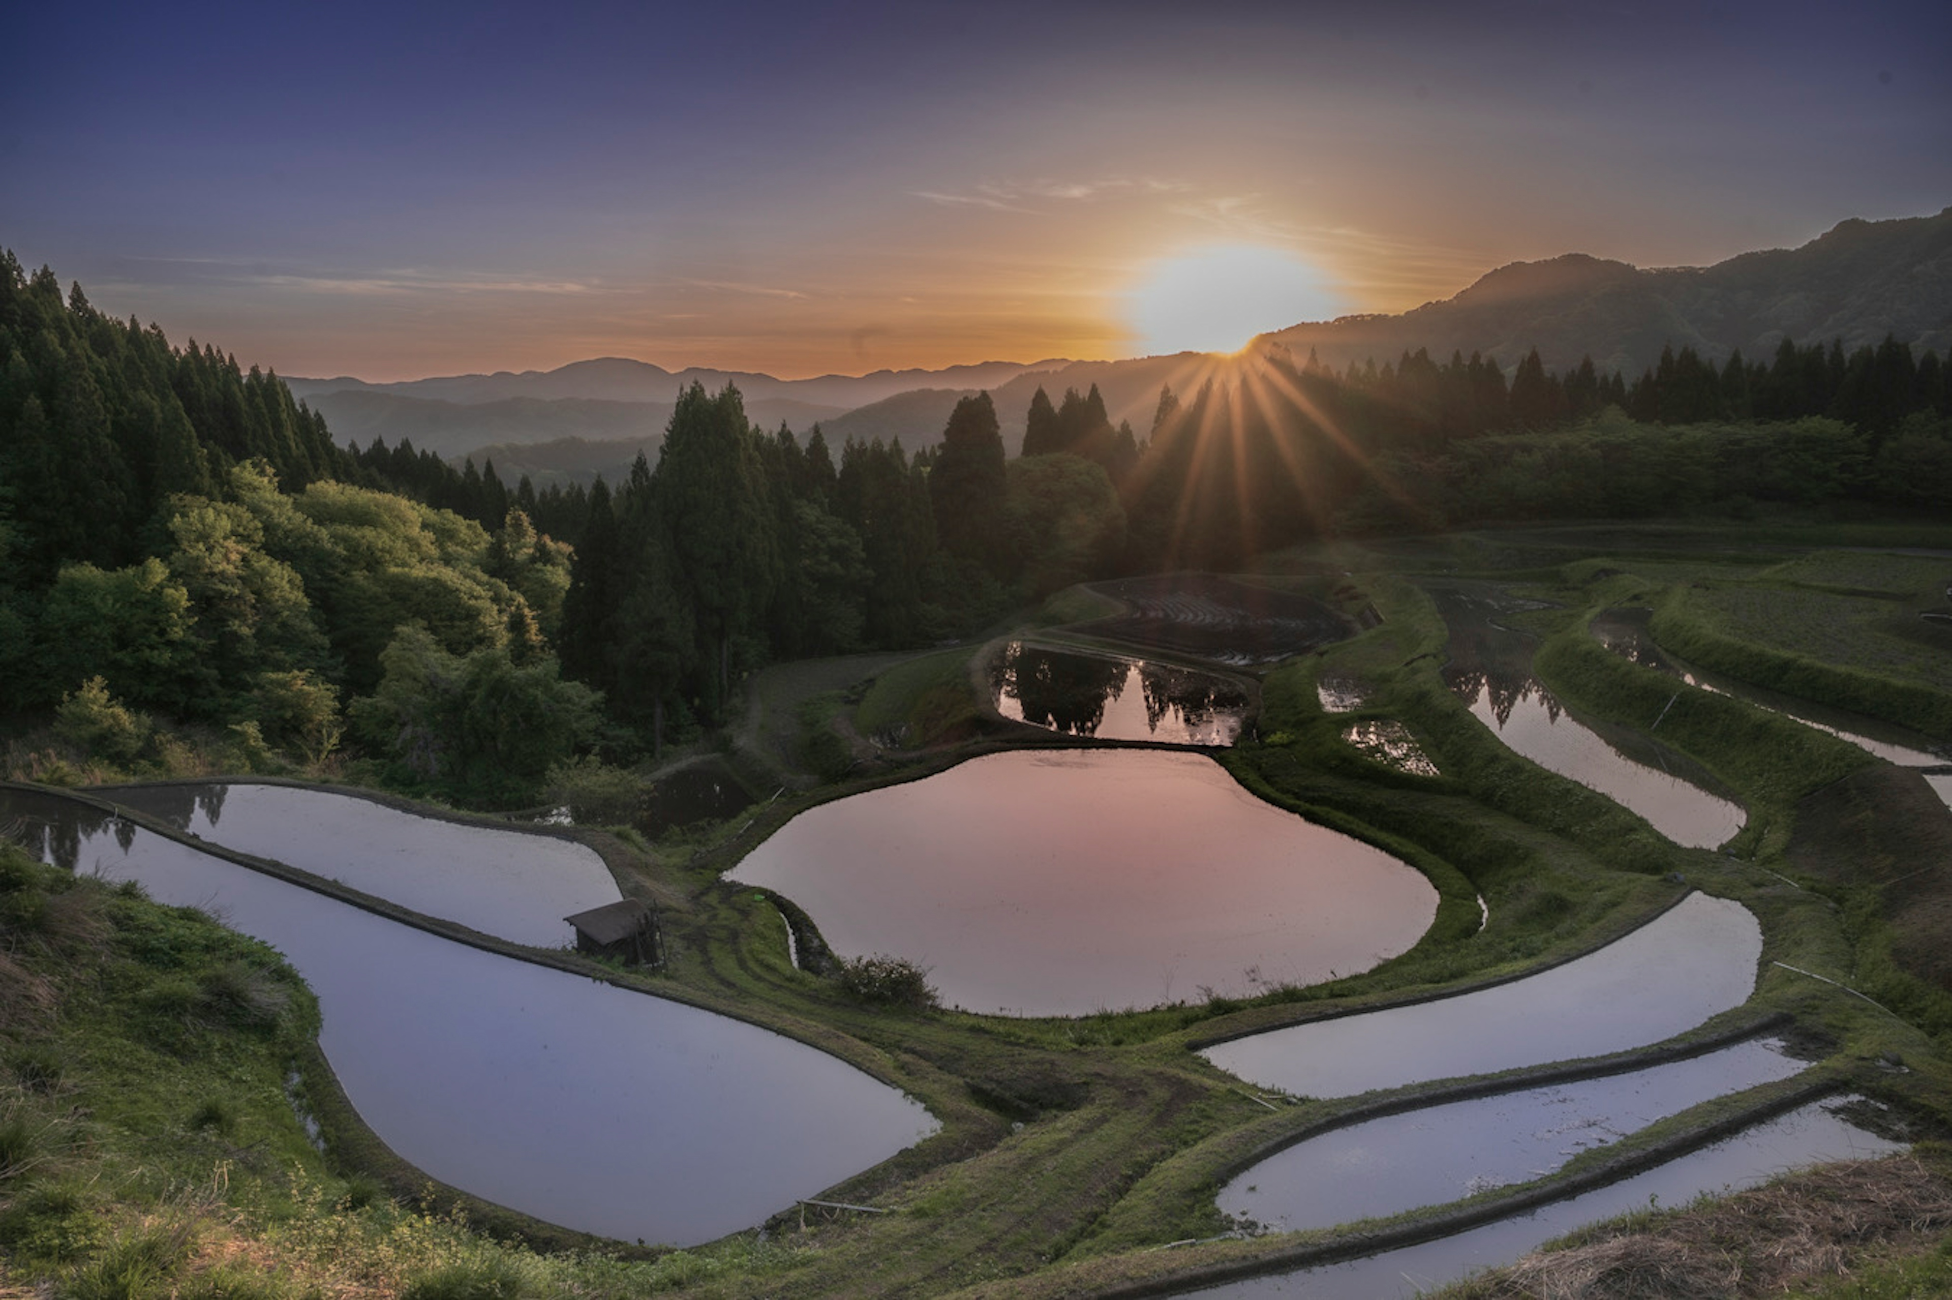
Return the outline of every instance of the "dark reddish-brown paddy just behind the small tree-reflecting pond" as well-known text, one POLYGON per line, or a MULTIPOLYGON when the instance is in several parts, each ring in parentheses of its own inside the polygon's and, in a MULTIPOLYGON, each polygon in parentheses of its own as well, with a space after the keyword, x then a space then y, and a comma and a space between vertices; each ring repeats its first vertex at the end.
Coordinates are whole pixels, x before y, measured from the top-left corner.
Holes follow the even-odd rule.
POLYGON ((1273 664, 1345 640, 1355 623, 1322 601, 1218 574, 1161 574, 1093 584, 1128 613, 1079 632, 1154 646, 1216 664, 1273 664))

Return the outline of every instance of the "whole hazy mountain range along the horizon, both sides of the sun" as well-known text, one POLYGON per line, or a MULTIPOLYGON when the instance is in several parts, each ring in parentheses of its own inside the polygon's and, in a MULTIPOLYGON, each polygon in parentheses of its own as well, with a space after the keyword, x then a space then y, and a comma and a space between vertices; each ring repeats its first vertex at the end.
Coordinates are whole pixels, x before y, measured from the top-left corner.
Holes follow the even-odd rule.
MULTIPOLYGON (((1437 361, 1476 351, 1497 361, 1507 377, 1538 347, 1552 371, 1571 371, 1591 355, 1603 371, 1616 369, 1632 381, 1669 345, 1692 347, 1714 361, 1739 347, 1767 361, 1784 338, 1804 345, 1835 338, 1854 349, 1886 334, 1915 351, 1952 353, 1952 207, 1936 217, 1850 219, 1802 248, 1739 254, 1708 267, 1642 269, 1589 254, 1513 262, 1450 299, 1402 314, 1296 324, 1259 336, 1251 347, 1286 347, 1298 363, 1314 351, 1335 369, 1370 359, 1392 363, 1419 347, 1437 361)), ((554 439, 619 441, 627 453, 619 449, 617 465, 629 465, 636 447, 662 441, 671 402, 693 381, 712 390, 738 385, 748 416, 761 427, 785 422, 804 435, 818 422, 835 447, 847 437, 900 437, 910 451, 941 441, 956 398, 990 390, 1003 441, 1015 453, 1038 386, 1056 400, 1066 388, 1083 392, 1097 385, 1113 422, 1128 420, 1146 437, 1159 386, 1187 392, 1212 369, 1212 357, 1179 353, 775 379, 599 357, 519 375, 285 383, 326 416, 340 441, 410 437, 416 447, 447 457, 496 443, 506 449, 554 439)), ((562 468, 590 474, 599 455, 578 449, 574 459, 574 468, 562 468)))

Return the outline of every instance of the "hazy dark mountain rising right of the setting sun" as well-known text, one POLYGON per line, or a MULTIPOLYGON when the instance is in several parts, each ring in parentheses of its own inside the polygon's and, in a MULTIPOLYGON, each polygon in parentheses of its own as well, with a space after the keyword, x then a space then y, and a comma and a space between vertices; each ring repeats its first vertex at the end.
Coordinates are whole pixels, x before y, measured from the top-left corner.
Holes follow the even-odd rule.
POLYGON ((1583 355, 1638 377, 1661 347, 1710 359, 1741 349, 1769 359, 1784 338, 1847 351, 1886 334, 1913 349, 1952 345, 1952 209, 1901 221, 1845 221, 1794 250, 1751 252, 1708 267, 1636 269, 1567 254, 1499 267, 1443 303, 1402 316, 1343 316, 1263 334, 1259 345, 1308 351, 1337 369, 1427 347, 1482 351, 1505 373, 1538 347, 1546 369, 1583 355))

